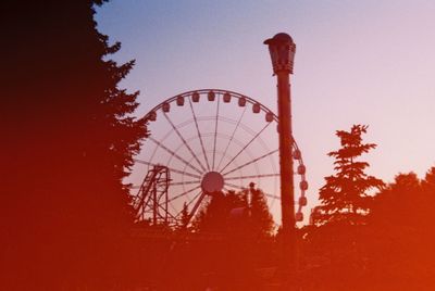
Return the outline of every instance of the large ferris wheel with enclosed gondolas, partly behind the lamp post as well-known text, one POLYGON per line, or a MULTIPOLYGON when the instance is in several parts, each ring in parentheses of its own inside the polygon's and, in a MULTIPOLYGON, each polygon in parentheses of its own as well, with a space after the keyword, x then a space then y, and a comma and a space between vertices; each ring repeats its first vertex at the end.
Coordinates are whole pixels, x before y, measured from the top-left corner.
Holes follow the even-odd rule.
MULTIPOLYGON (((147 115, 150 136, 130 176, 137 220, 179 225, 215 192, 256 185, 281 222, 278 118, 247 96, 199 89, 172 97, 147 115)), ((296 222, 307 205, 306 166, 296 142, 296 222)), ((285 162, 285 161, 284 161, 285 162)))

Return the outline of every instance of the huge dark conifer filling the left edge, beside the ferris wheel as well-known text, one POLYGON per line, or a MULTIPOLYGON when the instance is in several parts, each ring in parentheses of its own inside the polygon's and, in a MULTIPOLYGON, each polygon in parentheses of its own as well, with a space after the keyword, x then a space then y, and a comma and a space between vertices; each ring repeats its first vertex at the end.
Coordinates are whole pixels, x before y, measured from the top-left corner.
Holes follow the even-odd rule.
POLYGON ((123 178, 146 127, 138 93, 117 87, 134 63, 109 60, 120 43, 96 28, 102 2, 3 5, 0 289, 98 290, 126 274, 123 178))

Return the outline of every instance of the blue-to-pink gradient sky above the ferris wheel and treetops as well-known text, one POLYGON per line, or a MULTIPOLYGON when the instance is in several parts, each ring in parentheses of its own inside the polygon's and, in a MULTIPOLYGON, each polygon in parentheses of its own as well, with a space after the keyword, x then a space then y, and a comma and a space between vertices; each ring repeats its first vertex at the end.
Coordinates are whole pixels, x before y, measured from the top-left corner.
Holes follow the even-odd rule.
POLYGON ((276 112, 275 79, 263 40, 285 31, 297 51, 294 135, 310 182, 309 207, 337 129, 369 125, 370 174, 423 177, 435 165, 435 1, 112 1, 97 22, 114 56, 136 59, 122 86, 140 90, 144 115, 177 93, 222 88, 276 112))

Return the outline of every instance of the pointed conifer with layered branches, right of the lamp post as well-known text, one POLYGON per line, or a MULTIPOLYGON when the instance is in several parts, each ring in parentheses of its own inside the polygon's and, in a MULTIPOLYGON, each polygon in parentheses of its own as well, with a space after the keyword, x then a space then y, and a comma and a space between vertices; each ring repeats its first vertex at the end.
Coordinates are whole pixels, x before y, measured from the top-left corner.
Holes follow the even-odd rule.
POLYGON ((368 126, 353 125, 350 131, 337 130, 336 136, 340 139, 341 148, 328 153, 335 159, 336 174, 326 177, 326 184, 320 189, 322 204, 316 208, 314 224, 362 224, 370 207, 371 197, 368 191, 384 186, 381 179, 364 173, 369 163, 358 161, 363 153, 376 148, 374 143, 362 142, 366 128, 368 126))

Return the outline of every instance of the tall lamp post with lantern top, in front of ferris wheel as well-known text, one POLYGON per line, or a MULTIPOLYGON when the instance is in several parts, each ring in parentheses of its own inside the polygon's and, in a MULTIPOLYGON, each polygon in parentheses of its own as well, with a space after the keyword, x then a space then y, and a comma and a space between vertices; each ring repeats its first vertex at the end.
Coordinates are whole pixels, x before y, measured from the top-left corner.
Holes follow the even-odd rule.
POLYGON ((296 266, 296 231, 290 74, 293 74, 296 45, 291 37, 284 33, 266 39, 264 45, 269 46, 273 73, 277 76, 283 263, 286 269, 291 270, 296 266))

